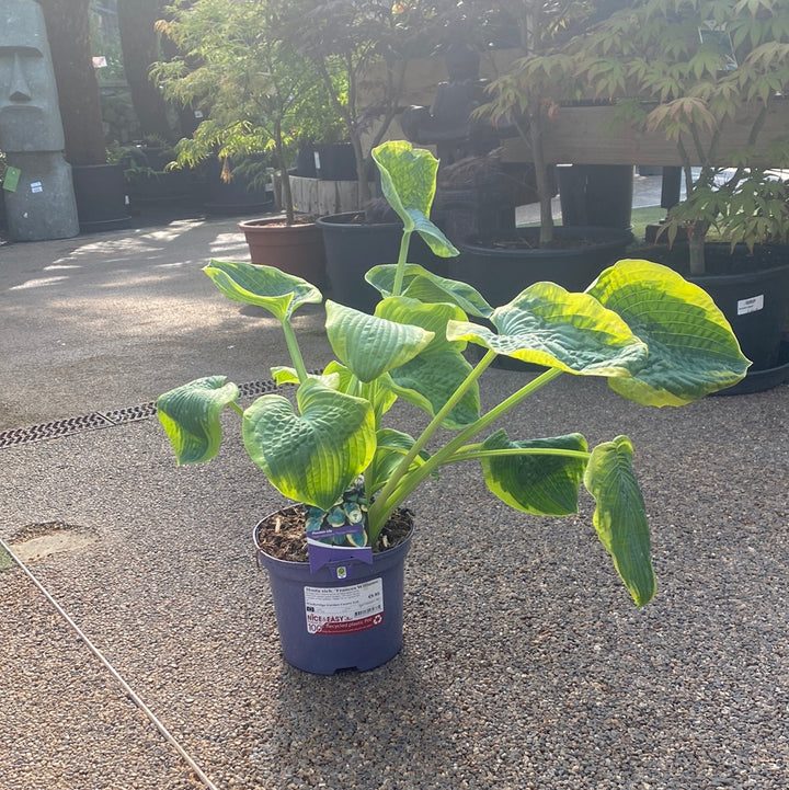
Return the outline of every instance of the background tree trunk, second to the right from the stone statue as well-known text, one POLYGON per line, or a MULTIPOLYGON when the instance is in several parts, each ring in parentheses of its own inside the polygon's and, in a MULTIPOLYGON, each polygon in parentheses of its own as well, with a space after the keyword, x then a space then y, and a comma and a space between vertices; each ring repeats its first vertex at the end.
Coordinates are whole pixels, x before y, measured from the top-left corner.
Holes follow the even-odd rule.
POLYGON ((161 60, 155 24, 163 5, 163 0, 118 0, 118 28, 126 80, 142 135, 174 142, 178 134, 168 119, 167 104, 148 79, 151 64, 161 60))

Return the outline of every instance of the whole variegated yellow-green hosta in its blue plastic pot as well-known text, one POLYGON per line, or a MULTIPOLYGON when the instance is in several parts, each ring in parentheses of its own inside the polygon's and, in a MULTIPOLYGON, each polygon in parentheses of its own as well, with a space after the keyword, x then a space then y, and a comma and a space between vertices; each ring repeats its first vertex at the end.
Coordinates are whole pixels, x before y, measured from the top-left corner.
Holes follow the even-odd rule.
POLYGON ((399 651, 412 531, 403 506, 418 506, 420 484, 460 461, 480 463, 490 491, 526 513, 574 513, 583 481, 603 545, 636 604, 648 603, 655 581, 630 440, 618 436, 590 449, 581 434, 519 439, 491 430, 562 373, 603 376, 621 396, 650 405, 682 405, 734 383, 748 363, 725 319, 698 286, 647 261, 619 262, 586 293, 539 283, 494 309, 467 284, 405 262, 413 233, 445 254, 455 251, 427 218, 437 161, 403 141, 384 144, 374 157, 403 222, 400 260, 367 275, 382 296, 374 316, 327 302, 336 359, 322 374, 306 370, 291 323, 300 307, 321 301, 315 286, 267 266, 211 261, 205 268, 227 297, 281 322, 291 366, 274 373, 297 386, 296 408, 281 394, 242 408, 224 376, 157 402, 180 463, 216 455, 229 407, 242 419, 251 459, 299 503, 255 527, 285 659, 331 674, 371 668, 399 651), (483 350, 476 366, 462 353, 469 342, 483 350), (483 413, 480 377, 500 354, 547 370, 483 413), (426 412, 420 436, 386 424, 398 398, 426 412), (439 440, 439 428, 448 439, 439 440))

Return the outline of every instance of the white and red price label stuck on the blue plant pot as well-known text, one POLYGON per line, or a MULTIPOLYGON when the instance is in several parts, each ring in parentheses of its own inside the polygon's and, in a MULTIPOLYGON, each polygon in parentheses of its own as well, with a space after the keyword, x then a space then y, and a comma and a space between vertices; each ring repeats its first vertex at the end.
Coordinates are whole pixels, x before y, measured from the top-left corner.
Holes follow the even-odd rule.
POLYGON ((350 587, 305 587, 307 631, 342 634, 366 631, 384 622, 384 581, 350 587))

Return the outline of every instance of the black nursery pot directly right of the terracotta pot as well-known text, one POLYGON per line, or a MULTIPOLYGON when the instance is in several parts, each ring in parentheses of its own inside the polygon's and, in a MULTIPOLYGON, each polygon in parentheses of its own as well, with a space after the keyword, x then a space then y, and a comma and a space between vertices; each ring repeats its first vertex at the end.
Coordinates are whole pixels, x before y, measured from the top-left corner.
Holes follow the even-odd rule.
MULTIPOLYGON (((364 213, 346 211, 321 217, 327 278, 334 301, 371 313, 380 294, 365 274, 381 263, 397 263, 402 222, 366 224, 364 213)), ((447 276, 446 259, 434 255, 418 233, 411 236, 409 263, 419 263, 434 274, 447 276)))

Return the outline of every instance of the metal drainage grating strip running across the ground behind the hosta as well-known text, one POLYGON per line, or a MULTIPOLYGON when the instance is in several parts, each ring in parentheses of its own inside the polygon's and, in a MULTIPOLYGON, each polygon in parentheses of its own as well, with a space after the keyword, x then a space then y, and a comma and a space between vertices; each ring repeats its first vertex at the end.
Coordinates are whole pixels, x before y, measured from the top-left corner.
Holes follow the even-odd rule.
MULTIPOLYGON (((272 379, 248 381, 247 383, 239 385, 239 394, 242 398, 249 398, 273 392, 277 389, 276 382, 272 379)), ((140 420, 149 420, 155 415, 156 403, 151 401, 150 403, 141 403, 136 407, 125 407, 107 412, 92 412, 91 414, 84 414, 79 417, 56 420, 52 423, 42 423, 41 425, 32 425, 26 428, 9 428, 8 431, 0 431, 0 449, 3 447, 26 445, 32 442, 60 438, 61 436, 71 436, 83 431, 96 431, 98 428, 108 428, 113 425, 124 425, 140 420)))

